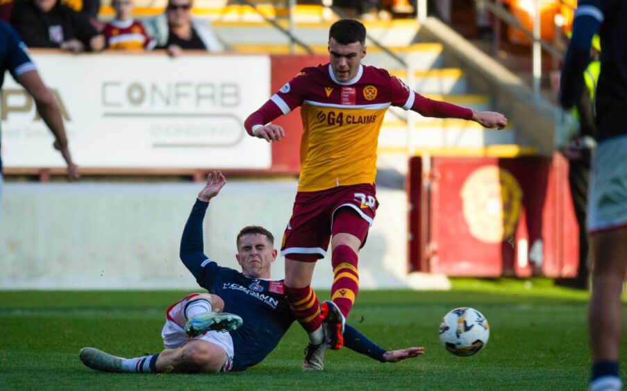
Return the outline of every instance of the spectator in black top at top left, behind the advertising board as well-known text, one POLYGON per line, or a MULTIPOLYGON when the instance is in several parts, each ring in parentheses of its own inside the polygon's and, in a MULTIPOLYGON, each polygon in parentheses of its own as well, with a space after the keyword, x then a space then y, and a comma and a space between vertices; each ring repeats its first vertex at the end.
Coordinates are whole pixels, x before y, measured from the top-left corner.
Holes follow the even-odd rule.
POLYGON ((89 19, 58 0, 17 0, 11 24, 31 48, 59 48, 81 53, 101 51, 105 38, 89 19))

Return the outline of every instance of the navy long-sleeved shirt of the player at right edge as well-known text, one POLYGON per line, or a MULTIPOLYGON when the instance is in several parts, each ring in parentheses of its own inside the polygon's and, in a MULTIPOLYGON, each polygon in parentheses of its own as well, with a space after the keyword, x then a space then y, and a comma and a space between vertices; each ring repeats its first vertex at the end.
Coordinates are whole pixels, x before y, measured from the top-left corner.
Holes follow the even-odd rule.
POLYGON ((590 42, 601 37, 601 74, 596 88, 597 139, 627 134, 627 1, 580 0, 562 71, 561 104, 570 108, 583 87, 590 42))

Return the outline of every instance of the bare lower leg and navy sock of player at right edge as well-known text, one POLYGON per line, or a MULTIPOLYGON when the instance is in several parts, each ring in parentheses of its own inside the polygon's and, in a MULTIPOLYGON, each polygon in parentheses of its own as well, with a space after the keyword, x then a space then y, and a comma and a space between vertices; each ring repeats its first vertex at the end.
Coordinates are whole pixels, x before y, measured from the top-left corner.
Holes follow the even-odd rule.
POLYGON ((599 232, 592 236, 594 269, 592 296, 588 310, 590 345, 592 345, 593 377, 591 384, 606 380, 620 389, 618 362, 623 330, 621 294, 627 271, 627 229, 599 232), (596 373, 595 373, 596 372, 596 373))

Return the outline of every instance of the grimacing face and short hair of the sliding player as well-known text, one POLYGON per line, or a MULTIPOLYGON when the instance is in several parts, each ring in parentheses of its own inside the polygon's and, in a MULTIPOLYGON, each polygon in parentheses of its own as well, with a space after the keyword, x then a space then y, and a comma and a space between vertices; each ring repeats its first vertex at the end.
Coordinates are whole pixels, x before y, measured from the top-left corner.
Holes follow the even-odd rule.
POLYGON ((270 264, 276 259, 276 250, 267 236, 249 234, 237 242, 235 258, 242 267, 242 273, 253 278, 270 278, 270 264))

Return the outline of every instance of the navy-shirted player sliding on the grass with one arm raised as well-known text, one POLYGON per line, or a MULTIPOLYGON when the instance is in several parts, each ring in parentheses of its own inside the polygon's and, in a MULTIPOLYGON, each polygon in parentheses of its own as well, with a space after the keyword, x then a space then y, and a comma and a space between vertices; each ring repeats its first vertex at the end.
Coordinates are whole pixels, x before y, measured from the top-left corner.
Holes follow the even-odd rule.
MULTIPOLYGON (((209 200, 226 184, 224 175, 208 175, 192 208, 181 239, 181 260, 209 293, 194 293, 172 304, 162 329, 160 354, 119 358, 92 347, 79 357, 106 372, 231 372, 260 363, 283 338, 294 315, 283 293, 283 280, 270 279, 276 259, 274 237, 259 226, 237 235, 237 263, 242 271, 219 266, 203 253, 203 218, 209 200)), ((381 362, 397 362, 423 354, 422 347, 385 351, 346 325, 344 344, 381 362)), ((324 351, 308 349, 303 370, 323 370, 324 351)))

